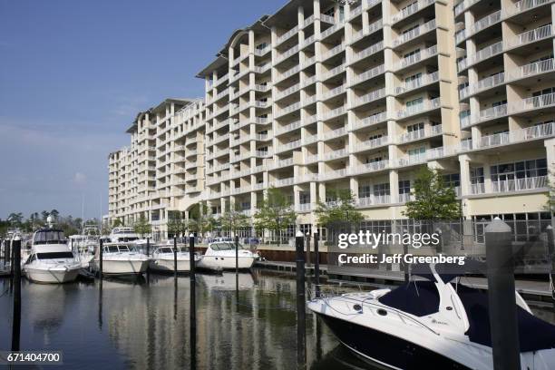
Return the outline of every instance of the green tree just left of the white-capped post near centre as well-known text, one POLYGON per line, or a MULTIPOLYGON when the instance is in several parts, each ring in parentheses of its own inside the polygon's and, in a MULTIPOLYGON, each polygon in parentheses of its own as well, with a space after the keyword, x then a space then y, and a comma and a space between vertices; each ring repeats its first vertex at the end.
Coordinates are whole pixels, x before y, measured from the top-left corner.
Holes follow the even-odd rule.
MULTIPOLYGON (((254 215, 255 229, 269 230, 280 235, 281 231, 297 222, 297 214, 291 206, 291 201, 281 190, 268 189, 268 194, 254 215)), ((281 238, 279 238, 279 243, 281 243, 281 238)))

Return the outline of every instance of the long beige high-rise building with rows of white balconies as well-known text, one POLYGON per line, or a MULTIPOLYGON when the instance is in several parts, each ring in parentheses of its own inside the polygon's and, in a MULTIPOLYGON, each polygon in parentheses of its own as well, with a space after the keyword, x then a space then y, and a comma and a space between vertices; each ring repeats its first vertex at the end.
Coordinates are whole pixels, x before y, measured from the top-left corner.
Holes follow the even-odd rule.
POLYGON ((110 157, 110 215, 163 224, 199 201, 252 215, 275 187, 303 229, 338 189, 366 219, 402 219, 429 166, 467 219, 550 219, 554 10, 291 0, 231 34, 198 73, 204 105, 167 100, 139 114, 131 147, 110 157))

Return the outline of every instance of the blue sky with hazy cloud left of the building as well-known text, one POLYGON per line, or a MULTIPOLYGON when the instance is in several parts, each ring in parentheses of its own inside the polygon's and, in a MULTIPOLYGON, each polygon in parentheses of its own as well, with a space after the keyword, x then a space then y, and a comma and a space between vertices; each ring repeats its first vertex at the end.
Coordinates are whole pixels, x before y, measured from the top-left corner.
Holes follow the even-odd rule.
POLYGON ((195 75, 285 2, 0 0, 0 219, 106 214, 108 153, 136 113, 204 96, 195 75))

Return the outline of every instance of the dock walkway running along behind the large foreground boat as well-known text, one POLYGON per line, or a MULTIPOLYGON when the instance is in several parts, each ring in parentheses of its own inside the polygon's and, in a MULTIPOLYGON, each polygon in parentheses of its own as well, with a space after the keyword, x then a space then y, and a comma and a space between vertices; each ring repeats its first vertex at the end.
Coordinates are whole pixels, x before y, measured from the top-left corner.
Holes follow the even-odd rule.
MULTIPOLYGON (((255 267, 284 272, 295 272, 296 270, 294 262, 281 261, 257 261, 255 267)), ((308 275, 314 276, 314 264, 307 265, 306 270, 308 275)), ((404 282, 403 271, 368 269, 366 273, 331 274, 327 265, 323 264, 320 264, 320 275, 330 283, 350 283, 359 286, 396 286, 404 282)), ((463 277, 461 284, 481 290, 488 288, 488 281, 485 277, 463 277)), ((555 304, 555 299, 550 291, 549 277, 546 277, 546 280, 517 278, 515 287, 525 300, 555 304)))

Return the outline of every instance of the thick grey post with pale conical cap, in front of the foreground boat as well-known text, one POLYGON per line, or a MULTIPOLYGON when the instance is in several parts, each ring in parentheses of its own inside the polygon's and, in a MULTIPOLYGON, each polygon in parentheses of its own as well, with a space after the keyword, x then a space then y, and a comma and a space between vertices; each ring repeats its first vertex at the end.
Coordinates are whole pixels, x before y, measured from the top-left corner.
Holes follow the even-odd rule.
POLYGON ((495 218, 485 228, 493 368, 521 369, 511 227, 495 218))

